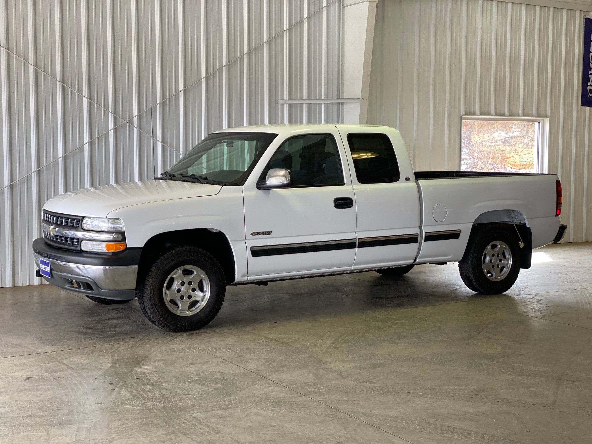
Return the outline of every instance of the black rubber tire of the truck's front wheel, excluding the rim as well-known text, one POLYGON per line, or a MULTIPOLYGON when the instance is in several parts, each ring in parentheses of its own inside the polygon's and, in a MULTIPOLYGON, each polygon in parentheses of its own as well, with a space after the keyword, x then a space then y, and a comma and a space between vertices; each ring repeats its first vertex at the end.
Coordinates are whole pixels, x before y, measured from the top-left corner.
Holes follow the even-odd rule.
POLYGON ((140 310, 155 326, 169 332, 190 332, 209 324, 218 314, 226 295, 224 272, 205 250, 192 246, 174 247, 155 260, 147 271, 144 282, 139 283, 136 297, 140 310), (191 316, 179 316, 165 304, 163 286, 165 279, 176 268, 194 265, 202 269, 210 281, 210 297, 198 313, 191 316))

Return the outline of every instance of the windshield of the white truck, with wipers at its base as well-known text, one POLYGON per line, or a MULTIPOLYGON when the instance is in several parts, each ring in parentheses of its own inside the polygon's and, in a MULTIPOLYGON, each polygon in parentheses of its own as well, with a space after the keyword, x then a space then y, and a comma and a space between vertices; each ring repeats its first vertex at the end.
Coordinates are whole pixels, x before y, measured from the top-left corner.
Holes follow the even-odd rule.
POLYGON ((164 179, 243 185, 277 134, 214 133, 162 173, 164 179))

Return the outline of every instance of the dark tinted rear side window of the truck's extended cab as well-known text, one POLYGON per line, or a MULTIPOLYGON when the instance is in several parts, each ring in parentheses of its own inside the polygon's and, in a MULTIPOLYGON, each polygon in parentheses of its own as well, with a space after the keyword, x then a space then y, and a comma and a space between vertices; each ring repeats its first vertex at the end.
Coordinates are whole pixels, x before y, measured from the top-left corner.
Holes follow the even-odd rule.
POLYGON ((348 134, 348 143, 358 182, 386 184, 400 179, 397 156, 386 134, 348 134))

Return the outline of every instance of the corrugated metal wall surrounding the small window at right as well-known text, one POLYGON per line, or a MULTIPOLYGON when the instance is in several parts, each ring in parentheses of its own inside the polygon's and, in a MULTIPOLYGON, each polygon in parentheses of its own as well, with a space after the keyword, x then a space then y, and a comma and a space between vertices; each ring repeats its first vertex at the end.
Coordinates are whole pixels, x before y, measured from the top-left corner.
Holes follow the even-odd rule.
POLYGON ((461 115, 549 117, 549 172, 563 185, 564 240, 592 240, 583 17, 491 0, 381 0, 368 122, 397 127, 414 168, 435 170, 460 167, 461 115))

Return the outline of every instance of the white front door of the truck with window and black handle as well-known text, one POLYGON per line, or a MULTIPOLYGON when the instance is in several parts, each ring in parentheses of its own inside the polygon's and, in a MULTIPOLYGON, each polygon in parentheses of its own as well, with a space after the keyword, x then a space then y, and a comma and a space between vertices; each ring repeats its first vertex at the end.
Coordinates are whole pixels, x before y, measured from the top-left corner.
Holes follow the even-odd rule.
POLYGON ((339 133, 285 140, 244 186, 249 280, 348 271, 356 255, 356 205, 339 133), (289 170, 290 188, 258 189, 271 168, 289 170))

